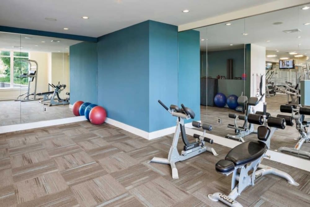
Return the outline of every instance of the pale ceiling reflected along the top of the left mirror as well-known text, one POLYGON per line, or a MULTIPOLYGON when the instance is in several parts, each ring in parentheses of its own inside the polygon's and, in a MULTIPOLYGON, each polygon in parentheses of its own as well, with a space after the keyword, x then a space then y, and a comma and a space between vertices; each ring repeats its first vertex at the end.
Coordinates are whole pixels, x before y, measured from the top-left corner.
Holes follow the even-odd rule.
POLYGON ((81 41, 0 32, 0 50, 69 52, 70 45, 81 41), (53 42, 51 42, 53 40, 53 42), (42 43, 42 41, 44 43, 42 43), (60 41, 60 42, 57 42, 60 41), (20 48, 22 46, 22 48, 20 48))

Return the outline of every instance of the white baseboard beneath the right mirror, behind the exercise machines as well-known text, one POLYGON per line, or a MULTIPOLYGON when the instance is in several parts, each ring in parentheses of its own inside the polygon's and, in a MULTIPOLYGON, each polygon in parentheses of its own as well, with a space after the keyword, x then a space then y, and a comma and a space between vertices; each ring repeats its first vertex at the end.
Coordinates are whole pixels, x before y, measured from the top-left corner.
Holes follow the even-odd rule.
MULTIPOLYGON (((186 134, 193 136, 194 133, 199 134, 199 135, 203 134, 201 131, 198 131, 195 129, 186 129, 186 134)), ((229 148, 233 148, 241 143, 241 142, 238 142, 232 139, 219 137, 214 134, 206 133, 205 136, 210 139, 213 139, 214 143, 227 146, 229 148)), ((299 168, 302 170, 310 171, 310 160, 302 159, 302 158, 284 154, 281 152, 276 152, 273 150, 268 150, 266 154, 270 155, 270 160, 281 162, 283 164, 287 164, 287 165, 290 165, 292 167, 299 168)), ((265 159, 268 159, 268 158, 265 158, 265 159)))

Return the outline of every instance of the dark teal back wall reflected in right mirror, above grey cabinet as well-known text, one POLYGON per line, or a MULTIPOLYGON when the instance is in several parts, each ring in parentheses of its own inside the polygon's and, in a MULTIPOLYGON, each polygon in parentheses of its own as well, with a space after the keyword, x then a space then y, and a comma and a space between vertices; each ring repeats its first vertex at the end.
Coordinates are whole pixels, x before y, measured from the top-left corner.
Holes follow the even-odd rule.
POLYGON ((232 77, 241 77, 244 73, 244 49, 208 52, 208 76, 227 76, 227 60, 232 59, 232 77))

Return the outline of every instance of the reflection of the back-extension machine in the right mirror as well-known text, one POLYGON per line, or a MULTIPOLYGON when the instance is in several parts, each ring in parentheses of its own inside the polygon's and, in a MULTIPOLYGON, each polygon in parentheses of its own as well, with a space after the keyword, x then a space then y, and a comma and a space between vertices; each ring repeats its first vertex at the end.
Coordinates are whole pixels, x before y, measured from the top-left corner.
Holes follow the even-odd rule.
MULTIPOLYGON (((249 100, 246 96, 240 96, 238 98, 238 104, 243 105, 245 107, 245 115, 239 115, 239 114, 232 114, 229 113, 228 117, 235 119, 234 124, 228 124, 228 128, 232 128, 235 130, 235 134, 227 134, 225 137, 230 138, 230 139, 236 139, 238 141, 244 142, 243 137, 251 134, 251 133, 257 133, 257 131, 254 130, 254 125, 248 121, 248 116, 252 113, 252 107, 256 106, 259 104, 260 101, 262 101, 263 97, 265 94, 262 93, 262 88, 263 88, 263 76, 260 77, 260 83, 259 83, 259 97, 250 97, 249 100), (238 120, 243 120, 242 125, 238 125, 237 121, 238 120)), ((255 114, 262 115, 262 111, 257 111, 255 114)), ((267 116, 270 116, 268 113, 267 116)))

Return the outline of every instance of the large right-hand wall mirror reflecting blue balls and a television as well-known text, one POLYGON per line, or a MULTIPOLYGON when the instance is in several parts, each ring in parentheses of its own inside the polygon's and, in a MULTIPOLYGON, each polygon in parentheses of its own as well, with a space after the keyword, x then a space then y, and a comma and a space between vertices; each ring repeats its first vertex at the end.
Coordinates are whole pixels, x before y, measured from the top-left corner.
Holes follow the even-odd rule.
POLYGON ((302 114, 310 105, 310 9, 302 8, 195 29, 201 36, 201 122, 212 125, 210 134, 256 140, 259 125, 246 116, 261 113, 266 102, 270 115, 287 120, 271 149, 310 159, 310 116, 302 114))

